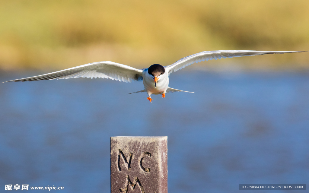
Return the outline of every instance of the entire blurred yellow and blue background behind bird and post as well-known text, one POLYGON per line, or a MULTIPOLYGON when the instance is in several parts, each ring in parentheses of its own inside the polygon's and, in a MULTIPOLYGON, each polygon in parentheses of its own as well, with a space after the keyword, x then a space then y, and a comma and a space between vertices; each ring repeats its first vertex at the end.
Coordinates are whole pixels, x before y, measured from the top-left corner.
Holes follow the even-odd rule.
MULTIPOLYGON (((305 0, 0 0, 0 82, 96 61, 147 68, 208 50, 309 50, 308 10, 305 0)), ((110 136, 168 136, 169 192, 308 184, 308 69, 308 53, 201 62, 170 76, 194 94, 152 103, 126 95, 141 82, 0 84, 0 192, 109 192, 110 136)))

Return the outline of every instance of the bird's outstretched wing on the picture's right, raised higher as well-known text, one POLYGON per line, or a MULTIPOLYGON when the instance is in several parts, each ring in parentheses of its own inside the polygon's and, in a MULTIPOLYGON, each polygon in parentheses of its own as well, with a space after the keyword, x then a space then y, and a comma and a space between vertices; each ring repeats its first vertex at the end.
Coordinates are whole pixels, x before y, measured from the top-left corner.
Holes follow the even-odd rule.
POLYGON ((233 58, 241 56, 256 56, 264 54, 283 54, 283 53, 294 53, 294 52, 307 52, 307 51, 250 51, 250 50, 217 50, 217 51, 205 51, 191 56, 181 58, 172 65, 164 66, 167 69, 168 74, 173 71, 176 72, 188 65, 198 63, 207 60, 217 60, 221 58, 233 58))

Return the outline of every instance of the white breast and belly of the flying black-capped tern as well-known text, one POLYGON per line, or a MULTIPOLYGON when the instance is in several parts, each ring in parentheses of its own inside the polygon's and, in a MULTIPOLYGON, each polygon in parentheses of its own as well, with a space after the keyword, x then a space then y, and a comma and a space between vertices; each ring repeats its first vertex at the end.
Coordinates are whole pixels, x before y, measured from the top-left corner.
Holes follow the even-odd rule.
POLYGON ((148 69, 143 71, 143 84, 148 94, 162 94, 168 88, 168 73, 165 71, 164 74, 158 77, 158 81, 155 87, 154 77, 148 74, 148 69))

